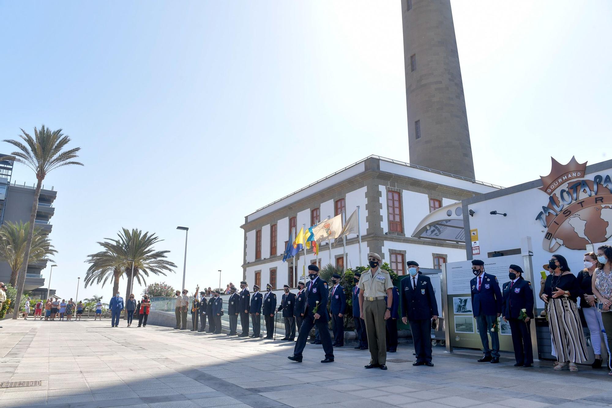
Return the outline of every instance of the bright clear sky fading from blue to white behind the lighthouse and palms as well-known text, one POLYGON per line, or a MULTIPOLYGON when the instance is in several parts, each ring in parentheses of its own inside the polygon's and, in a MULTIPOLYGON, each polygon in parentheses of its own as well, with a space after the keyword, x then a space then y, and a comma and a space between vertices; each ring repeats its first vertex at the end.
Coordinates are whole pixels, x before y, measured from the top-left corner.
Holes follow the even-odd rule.
MULTIPOLYGON (((612 3, 452 6, 477 178, 606 160, 612 3)), ((45 180, 62 297, 122 226, 171 251, 151 282, 180 286, 185 225, 190 291, 237 283, 245 215, 370 154, 408 161, 399 0, 1 1, 0 39, 0 139, 45 124, 82 147, 45 180)))

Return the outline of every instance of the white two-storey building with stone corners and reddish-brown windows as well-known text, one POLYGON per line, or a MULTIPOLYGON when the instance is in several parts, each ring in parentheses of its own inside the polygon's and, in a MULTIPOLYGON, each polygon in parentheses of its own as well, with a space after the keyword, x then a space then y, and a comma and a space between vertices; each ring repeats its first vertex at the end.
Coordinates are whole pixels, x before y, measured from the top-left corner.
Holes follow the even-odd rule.
MULTIPOLYGON (((293 259, 282 262, 292 228, 308 228, 318 220, 346 212, 348 218, 360 207, 362 259, 356 234, 346 240, 346 267, 366 265, 368 252, 381 255, 400 275, 406 261, 439 268, 444 262, 466 259, 463 224, 430 228, 424 237, 412 233, 428 213, 466 198, 499 190, 498 186, 453 176, 401 161, 370 156, 296 191, 245 217, 244 279, 249 283, 297 285, 302 265, 313 264, 312 250, 303 251, 294 269, 293 259), (452 240, 430 239, 450 234, 452 240), (298 276, 299 275, 299 276, 298 276)), ((319 265, 342 267, 343 247, 321 245, 319 265)))

